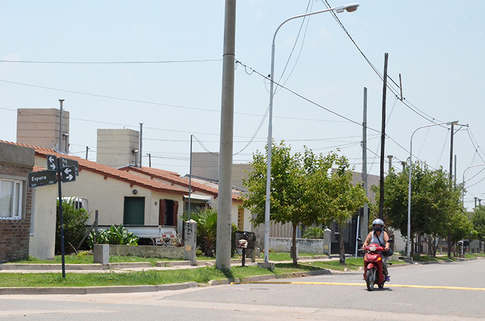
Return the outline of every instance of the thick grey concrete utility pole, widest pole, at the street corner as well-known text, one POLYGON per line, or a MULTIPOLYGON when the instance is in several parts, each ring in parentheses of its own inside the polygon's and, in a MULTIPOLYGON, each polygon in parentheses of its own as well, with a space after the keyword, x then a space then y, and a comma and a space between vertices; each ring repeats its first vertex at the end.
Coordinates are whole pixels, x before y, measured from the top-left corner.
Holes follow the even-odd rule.
POLYGON ((236 0, 226 0, 224 14, 224 53, 222 55, 222 103, 219 153, 218 242, 215 266, 231 269, 231 205, 234 128, 234 63, 236 0))

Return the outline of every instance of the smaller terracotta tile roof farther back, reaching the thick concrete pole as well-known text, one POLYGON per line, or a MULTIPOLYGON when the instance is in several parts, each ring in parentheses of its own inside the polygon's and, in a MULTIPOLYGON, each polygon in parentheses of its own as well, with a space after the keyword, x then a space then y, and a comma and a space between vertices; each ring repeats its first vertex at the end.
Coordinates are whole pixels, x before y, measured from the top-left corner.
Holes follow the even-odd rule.
MULTIPOLYGON (((140 168, 140 167, 133 167, 133 166, 125 166, 123 168, 120 168, 120 170, 139 172, 140 174, 148 175, 150 177, 161 179, 163 181, 169 181, 170 183, 182 185, 187 189, 189 188, 189 179, 180 177, 179 174, 177 173, 175 173, 176 175, 174 175, 174 172, 169 172, 168 170, 161 170, 153 167, 140 168)), ((196 192, 204 192, 207 194, 211 194, 215 197, 217 197, 219 193, 217 188, 213 188, 211 186, 198 183, 194 180, 192 180, 192 190, 196 192)), ((233 194, 234 201, 240 201, 240 198, 241 196, 237 194, 233 194)))

